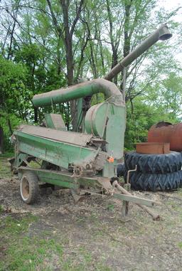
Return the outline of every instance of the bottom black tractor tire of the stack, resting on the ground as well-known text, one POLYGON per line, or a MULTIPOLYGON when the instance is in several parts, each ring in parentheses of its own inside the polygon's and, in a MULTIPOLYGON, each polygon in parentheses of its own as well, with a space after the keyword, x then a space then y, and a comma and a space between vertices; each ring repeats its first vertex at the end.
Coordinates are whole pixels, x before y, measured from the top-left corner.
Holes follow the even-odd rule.
MULTIPOLYGON (((127 181, 127 174, 124 174, 127 181)), ((170 191, 182 186, 182 171, 168 174, 144 174, 131 172, 129 182, 134 190, 143 191, 170 191)))

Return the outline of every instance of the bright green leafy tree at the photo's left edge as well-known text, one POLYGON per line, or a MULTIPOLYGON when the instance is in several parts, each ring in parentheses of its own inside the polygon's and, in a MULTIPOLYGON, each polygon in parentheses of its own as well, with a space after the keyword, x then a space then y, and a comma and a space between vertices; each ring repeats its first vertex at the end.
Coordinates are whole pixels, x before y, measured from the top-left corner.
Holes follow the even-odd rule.
MULTIPOLYGON (((22 122, 30 120, 30 91, 26 88, 27 70, 21 64, 13 63, 0 56, 0 126, 1 148, 4 141, 9 146, 9 137, 14 127, 22 122)), ((1 149, 2 151, 2 149, 1 149)))

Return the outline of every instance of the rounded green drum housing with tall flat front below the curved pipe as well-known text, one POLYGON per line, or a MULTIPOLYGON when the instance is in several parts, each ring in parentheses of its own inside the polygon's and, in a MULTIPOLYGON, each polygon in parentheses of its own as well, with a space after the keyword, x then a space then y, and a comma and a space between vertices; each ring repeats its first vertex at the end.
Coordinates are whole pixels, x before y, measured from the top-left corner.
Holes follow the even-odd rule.
POLYGON ((90 107, 85 117, 86 132, 105 139, 107 154, 114 159, 122 159, 125 124, 125 107, 111 102, 90 107))

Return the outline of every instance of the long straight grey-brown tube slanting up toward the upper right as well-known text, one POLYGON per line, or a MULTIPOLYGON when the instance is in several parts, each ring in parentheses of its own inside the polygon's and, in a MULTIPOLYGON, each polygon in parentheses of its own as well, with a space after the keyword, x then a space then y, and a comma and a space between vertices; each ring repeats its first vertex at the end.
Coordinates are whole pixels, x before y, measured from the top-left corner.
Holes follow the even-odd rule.
POLYGON ((112 80, 114 76, 116 76, 118 73, 121 72, 122 68, 127 67, 129 64, 131 64, 135 59, 137 59, 142 53, 144 53, 146 50, 148 50, 151 46, 154 45, 157 41, 165 41, 171 38, 172 34, 168 30, 168 26, 163 24, 161 27, 159 27, 154 33, 151 33, 151 35, 146 38, 144 41, 139 44, 129 55, 127 55, 125 58, 122 59, 117 65, 112 68, 112 70, 105 75, 106 80, 112 80))

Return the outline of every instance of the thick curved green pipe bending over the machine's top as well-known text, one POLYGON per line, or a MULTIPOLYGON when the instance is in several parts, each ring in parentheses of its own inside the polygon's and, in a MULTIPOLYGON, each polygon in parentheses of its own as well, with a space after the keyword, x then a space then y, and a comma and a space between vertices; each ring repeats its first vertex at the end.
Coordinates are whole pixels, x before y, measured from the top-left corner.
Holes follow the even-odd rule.
POLYGON ((94 95, 99 92, 104 93, 106 98, 116 96, 120 97, 118 100, 123 102, 122 93, 119 91, 117 86, 105 79, 95 79, 60 90, 53 90, 43 94, 34 95, 32 102, 34 107, 40 107, 68 102, 81 97, 94 95))

